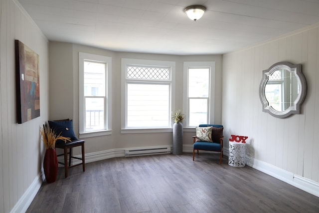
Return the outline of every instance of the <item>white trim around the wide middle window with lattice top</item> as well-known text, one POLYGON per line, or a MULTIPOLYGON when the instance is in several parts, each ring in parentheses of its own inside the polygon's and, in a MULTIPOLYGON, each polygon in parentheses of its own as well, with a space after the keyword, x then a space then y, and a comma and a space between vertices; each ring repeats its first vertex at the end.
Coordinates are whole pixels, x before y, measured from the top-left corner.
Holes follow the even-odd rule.
MULTIPOLYGON (((146 66, 166 66, 171 68, 171 93, 170 93, 170 111, 175 108, 175 62, 160 60, 144 60, 133 58, 121 59, 121 133, 161 133, 172 132, 171 128, 126 128, 126 107, 127 107, 127 88, 126 88, 126 67, 130 65, 146 66)), ((170 121, 172 127, 172 122, 170 121)))

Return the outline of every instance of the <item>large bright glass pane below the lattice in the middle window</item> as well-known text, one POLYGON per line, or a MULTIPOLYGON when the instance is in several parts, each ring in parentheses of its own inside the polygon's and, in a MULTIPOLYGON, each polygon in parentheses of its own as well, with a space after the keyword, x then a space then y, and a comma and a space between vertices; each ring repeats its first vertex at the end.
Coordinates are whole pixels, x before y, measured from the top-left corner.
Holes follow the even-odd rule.
POLYGON ((169 85, 128 84, 127 127, 169 127, 169 85))

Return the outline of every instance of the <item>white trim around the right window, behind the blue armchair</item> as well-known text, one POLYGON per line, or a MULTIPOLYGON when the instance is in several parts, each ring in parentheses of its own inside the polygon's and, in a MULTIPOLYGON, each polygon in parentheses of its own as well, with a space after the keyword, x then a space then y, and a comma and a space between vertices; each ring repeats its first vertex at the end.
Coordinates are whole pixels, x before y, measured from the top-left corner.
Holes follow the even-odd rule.
POLYGON ((194 132, 194 127, 188 126, 188 68, 205 68, 210 67, 210 79, 209 79, 209 109, 208 109, 208 118, 209 123, 213 124, 214 122, 214 115, 215 115, 215 61, 184 61, 183 63, 183 82, 184 82, 184 88, 183 88, 183 112, 185 112, 185 127, 184 132, 194 132))

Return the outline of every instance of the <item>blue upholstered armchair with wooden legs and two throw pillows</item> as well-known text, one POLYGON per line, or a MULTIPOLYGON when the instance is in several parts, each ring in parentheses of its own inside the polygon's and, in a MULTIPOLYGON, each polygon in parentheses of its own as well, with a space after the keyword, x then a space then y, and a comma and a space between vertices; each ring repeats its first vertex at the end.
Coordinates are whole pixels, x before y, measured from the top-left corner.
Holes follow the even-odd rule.
POLYGON ((215 124, 200 124, 196 127, 196 136, 193 136, 193 161, 195 150, 213 151, 220 153, 220 164, 223 158, 223 126, 215 124))

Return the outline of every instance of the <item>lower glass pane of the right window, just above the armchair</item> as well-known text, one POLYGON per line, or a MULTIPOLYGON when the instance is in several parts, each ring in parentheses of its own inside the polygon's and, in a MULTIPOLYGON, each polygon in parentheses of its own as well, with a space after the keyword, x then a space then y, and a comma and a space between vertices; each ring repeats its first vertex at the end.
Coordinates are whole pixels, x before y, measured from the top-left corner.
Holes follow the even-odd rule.
POLYGON ((189 99, 189 126, 207 123, 207 99, 189 99))

